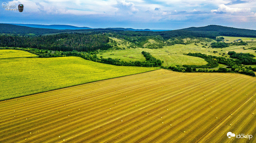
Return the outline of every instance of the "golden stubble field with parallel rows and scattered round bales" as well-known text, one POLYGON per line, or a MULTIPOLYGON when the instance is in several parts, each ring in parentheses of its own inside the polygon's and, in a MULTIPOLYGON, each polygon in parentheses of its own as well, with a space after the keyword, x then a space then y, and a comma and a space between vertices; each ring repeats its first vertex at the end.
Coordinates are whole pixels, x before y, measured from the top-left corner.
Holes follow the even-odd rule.
POLYGON ((0 102, 0 142, 253 143, 255 87, 247 75, 159 69, 14 98, 0 102))

